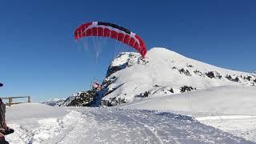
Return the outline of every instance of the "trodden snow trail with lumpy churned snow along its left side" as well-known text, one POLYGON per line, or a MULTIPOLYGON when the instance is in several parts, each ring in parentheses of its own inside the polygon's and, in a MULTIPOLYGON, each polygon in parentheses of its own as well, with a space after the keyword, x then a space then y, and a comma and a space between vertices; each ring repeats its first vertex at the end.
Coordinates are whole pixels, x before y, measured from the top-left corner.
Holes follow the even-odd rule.
MULTIPOLYGON (((63 108, 64 109, 64 108, 63 108)), ((62 118, 26 118, 10 123, 18 143, 252 143, 190 117, 151 110, 66 108, 62 118)))

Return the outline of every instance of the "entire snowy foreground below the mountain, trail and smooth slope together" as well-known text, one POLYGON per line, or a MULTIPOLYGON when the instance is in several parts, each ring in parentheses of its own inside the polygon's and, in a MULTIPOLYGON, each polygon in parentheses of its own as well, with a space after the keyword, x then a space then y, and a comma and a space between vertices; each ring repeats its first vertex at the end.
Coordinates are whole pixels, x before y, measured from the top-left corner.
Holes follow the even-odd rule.
POLYGON ((10 143, 254 143, 256 90, 219 86, 110 107, 7 107, 10 143), (182 115, 181 115, 182 114, 182 115), (186 116, 187 115, 187 116, 186 116))

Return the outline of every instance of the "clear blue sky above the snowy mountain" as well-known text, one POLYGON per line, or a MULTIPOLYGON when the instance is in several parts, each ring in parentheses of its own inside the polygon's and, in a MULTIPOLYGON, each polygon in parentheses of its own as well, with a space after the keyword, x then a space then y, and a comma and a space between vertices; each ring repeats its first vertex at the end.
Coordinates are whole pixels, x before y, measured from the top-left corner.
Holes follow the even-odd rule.
MULTIPOLYGON (((32 101, 65 98, 104 76, 109 58, 94 58, 74 42, 84 22, 113 22, 163 46, 233 70, 256 70, 256 1, 12 1, 0 4, 0 96, 32 101), (104 63, 105 61, 105 63, 104 63)), ((109 46, 107 47, 111 49, 109 46)))

